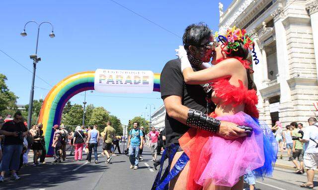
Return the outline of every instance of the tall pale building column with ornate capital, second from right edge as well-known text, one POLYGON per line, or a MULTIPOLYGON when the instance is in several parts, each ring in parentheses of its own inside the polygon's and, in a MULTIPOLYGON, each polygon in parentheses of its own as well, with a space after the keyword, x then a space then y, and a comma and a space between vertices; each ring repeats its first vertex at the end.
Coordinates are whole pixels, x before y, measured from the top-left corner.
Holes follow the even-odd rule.
POLYGON ((277 82, 280 84, 280 107, 279 117, 284 118, 293 111, 291 101, 291 92, 287 80, 289 79, 289 61, 287 53, 286 30, 282 23, 284 20, 284 8, 278 7, 271 16, 274 18, 275 35, 276 35, 276 50, 277 50, 277 65, 278 75, 277 82))

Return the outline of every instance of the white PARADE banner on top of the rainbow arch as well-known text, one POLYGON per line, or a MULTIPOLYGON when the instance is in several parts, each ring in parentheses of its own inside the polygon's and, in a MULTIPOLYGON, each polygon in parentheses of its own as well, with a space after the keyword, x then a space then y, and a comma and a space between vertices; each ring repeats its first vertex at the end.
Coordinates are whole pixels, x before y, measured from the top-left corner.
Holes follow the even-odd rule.
POLYGON ((97 69, 95 91, 101 93, 152 93, 154 73, 152 71, 97 69))

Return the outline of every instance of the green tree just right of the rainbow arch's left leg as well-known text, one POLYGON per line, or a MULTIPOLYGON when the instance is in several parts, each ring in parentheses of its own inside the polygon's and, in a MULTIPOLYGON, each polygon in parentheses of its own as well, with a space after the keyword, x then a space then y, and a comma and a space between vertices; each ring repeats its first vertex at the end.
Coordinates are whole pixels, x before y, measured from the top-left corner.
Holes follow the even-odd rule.
POLYGON ((83 118, 83 107, 79 104, 72 105, 70 111, 62 115, 62 122, 64 125, 81 126, 83 118))

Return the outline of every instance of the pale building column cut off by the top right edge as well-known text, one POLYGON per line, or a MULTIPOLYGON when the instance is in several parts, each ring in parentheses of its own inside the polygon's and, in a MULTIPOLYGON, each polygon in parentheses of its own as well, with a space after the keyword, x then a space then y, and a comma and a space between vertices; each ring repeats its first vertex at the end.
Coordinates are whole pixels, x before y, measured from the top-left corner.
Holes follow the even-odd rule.
POLYGON ((310 20, 313 30, 313 40, 314 40, 314 49, 315 49, 315 59, 316 59, 316 70, 317 70, 317 79, 318 79, 318 0, 313 1, 312 3, 306 6, 306 9, 309 11, 310 20))

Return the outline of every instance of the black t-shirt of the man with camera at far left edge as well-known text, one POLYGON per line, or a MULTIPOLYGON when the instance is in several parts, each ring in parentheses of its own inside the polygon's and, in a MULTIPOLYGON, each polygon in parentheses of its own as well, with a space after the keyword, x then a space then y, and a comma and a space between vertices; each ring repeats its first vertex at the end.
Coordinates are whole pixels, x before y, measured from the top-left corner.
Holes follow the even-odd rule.
POLYGON ((22 122, 14 123, 13 121, 5 122, 1 128, 3 131, 20 132, 19 136, 5 136, 4 145, 23 144, 22 133, 26 132, 26 127, 22 122))

